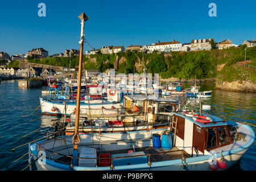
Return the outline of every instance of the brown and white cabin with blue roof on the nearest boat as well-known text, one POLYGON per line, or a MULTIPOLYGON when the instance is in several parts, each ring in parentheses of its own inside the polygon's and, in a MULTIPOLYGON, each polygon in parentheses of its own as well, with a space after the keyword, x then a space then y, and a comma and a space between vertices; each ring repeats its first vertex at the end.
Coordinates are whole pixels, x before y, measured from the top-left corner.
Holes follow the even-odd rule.
POLYGON ((233 143, 228 124, 214 115, 208 115, 212 119, 209 123, 197 122, 181 113, 172 112, 172 115, 177 122, 175 146, 184 147, 191 156, 209 155, 210 150, 233 143))

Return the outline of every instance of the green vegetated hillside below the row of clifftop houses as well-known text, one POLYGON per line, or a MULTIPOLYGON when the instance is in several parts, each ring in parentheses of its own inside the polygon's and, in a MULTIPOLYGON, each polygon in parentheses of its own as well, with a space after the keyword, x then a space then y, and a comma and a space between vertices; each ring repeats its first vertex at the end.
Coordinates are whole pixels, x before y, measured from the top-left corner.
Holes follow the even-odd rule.
MULTIPOLYGON (((246 49, 246 68, 238 65, 238 61, 245 60, 245 48, 232 47, 228 49, 212 49, 210 51, 170 52, 170 53, 142 53, 135 52, 149 73, 159 73, 162 78, 218 78, 218 81, 251 80, 255 81, 256 46, 246 49), (220 65, 222 69, 220 69, 220 65)), ((100 52, 90 57, 84 56, 85 69, 100 69, 105 72, 118 64, 118 73, 141 73, 142 65, 137 56, 131 52, 106 55, 100 52), (118 56, 118 63, 117 63, 118 56), (92 61, 94 60, 94 61, 92 61), (122 61, 121 61, 122 60, 122 61), (137 66, 141 65, 138 69, 137 66)), ((51 57, 29 60, 31 63, 58 65, 69 67, 69 57, 51 57)), ((78 64, 78 57, 71 57, 71 67, 78 64)))

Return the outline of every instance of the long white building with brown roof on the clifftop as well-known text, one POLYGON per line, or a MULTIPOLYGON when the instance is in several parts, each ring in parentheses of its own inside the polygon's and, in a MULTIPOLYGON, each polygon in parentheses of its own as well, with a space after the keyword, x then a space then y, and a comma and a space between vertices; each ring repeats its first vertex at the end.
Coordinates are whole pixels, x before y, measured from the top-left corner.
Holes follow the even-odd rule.
POLYGON ((173 40, 172 42, 157 42, 152 43, 148 46, 148 51, 159 51, 159 52, 170 52, 180 51, 182 44, 178 41, 173 40))

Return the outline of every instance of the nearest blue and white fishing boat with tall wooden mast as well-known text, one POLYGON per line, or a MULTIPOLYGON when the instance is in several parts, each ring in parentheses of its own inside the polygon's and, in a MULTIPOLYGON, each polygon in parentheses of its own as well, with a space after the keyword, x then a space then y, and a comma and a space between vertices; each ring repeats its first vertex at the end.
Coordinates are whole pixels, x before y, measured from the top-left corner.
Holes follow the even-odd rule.
MULTIPOLYGON (((254 142, 253 129, 202 113, 201 107, 200 114, 192 117, 177 110, 163 111, 172 119, 169 130, 160 134, 159 129, 96 134, 93 128, 91 133, 79 134, 82 48, 88 17, 82 13, 79 18, 82 28, 75 132, 60 137, 48 133, 47 139, 34 140, 28 152, 39 170, 222 170, 241 159, 254 142)), ((146 114, 151 123, 155 121, 153 112, 151 107, 146 114)))

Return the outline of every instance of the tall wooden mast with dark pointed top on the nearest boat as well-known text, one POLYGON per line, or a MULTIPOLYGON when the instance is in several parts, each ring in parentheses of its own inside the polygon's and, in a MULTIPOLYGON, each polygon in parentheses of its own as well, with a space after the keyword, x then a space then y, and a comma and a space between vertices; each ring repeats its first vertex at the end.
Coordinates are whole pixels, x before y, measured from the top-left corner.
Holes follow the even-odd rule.
MULTIPOLYGON (((88 20, 88 16, 85 13, 79 15, 81 19, 81 36, 80 36, 80 53, 79 53, 79 76, 77 84, 77 103, 76 103, 76 125, 75 125, 75 134, 73 135, 73 156, 78 155, 77 147, 80 143, 79 138, 79 114, 80 114, 80 96, 81 96, 81 75, 82 75, 82 55, 84 48, 84 22, 88 20)), ((73 164, 77 163, 77 159, 73 159, 73 164)))

